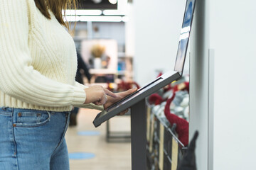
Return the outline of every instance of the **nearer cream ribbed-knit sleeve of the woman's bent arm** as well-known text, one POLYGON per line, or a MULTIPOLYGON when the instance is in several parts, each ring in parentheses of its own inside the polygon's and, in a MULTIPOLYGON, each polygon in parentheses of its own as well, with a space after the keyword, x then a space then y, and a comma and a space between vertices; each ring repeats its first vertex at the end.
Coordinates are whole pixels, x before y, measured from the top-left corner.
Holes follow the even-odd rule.
POLYGON ((85 91, 49 79, 33 69, 28 48, 28 1, 0 1, 0 90, 37 106, 75 106, 85 91))

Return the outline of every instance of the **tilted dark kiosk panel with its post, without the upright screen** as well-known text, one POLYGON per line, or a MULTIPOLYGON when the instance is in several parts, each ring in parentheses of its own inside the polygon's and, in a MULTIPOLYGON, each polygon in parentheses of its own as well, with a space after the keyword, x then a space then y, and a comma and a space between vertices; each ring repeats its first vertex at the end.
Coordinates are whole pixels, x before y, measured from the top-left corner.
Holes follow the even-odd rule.
POLYGON ((181 74, 178 72, 167 72, 145 86, 139 93, 118 103, 115 108, 102 111, 93 121, 97 127, 114 115, 131 108, 132 170, 146 170, 146 97, 180 78, 181 74))

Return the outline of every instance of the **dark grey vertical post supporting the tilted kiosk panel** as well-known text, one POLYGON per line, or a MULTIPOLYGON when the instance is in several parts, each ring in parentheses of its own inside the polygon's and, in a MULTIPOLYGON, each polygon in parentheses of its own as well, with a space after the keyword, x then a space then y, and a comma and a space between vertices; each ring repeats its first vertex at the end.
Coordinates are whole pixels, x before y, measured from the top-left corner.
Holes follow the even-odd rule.
POLYGON ((146 99, 131 107, 132 170, 146 170, 146 99))

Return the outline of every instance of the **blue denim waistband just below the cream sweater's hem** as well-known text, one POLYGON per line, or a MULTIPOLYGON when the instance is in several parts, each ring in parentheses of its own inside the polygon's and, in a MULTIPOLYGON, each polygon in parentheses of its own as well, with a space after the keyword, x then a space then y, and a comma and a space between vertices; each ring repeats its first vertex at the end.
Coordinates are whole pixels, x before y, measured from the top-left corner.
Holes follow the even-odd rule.
POLYGON ((50 113, 50 114, 55 114, 55 113, 70 113, 70 111, 63 111, 63 112, 56 112, 56 111, 41 111, 41 110, 35 110, 35 109, 27 109, 27 108, 9 108, 9 107, 0 107, 0 112, 5 112, 5 113, 14 113, 14 112, 33 112, 33 113, 50 113))

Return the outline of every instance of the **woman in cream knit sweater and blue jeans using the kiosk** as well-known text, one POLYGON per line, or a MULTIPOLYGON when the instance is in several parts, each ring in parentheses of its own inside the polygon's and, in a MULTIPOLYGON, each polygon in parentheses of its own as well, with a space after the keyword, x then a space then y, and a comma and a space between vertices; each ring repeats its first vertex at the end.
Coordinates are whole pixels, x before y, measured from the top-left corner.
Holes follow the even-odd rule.
POLYGON ((70 4, 0 1, 1 170, 69 169, 64 135, 71 108, 102 110, 135 90, 112 94, 75 82, 75 44, 62 17, 70 4))

